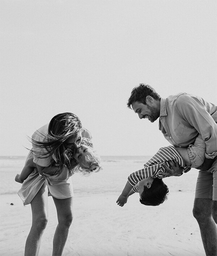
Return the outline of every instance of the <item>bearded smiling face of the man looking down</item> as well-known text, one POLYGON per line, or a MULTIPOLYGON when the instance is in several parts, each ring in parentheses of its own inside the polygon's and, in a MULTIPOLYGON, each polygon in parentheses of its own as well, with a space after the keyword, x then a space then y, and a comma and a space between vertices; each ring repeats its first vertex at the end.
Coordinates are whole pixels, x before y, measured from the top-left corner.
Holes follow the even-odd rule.
POLYGON ((132 103, 132 109, 133 111, 139 115, 139 118, 148 118, 150 122, 154 122, 158 119, 160 115, 160 110, 157 108, 157 106, 154 106, 154 103, 150 103, 146 100, 146 105, 144 103, 141 103, 139 101, 135 101, 132 103))

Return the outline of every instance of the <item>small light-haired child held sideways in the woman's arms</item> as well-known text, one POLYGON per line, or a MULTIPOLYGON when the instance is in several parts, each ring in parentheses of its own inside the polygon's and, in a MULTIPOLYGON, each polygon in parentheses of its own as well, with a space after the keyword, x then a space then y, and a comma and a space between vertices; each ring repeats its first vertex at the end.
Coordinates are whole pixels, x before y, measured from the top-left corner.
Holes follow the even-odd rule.
MULTIPOLYGON (((91 174, 92 172, 98 172, 102 169, 100 166, 100 157, 93 150, 93 143, 88 138, 82 138, 80 145, 78 146, 75 154, 73 155, 72 150, 66 150, 67 157, 70 161, 76 160, 78 163, 73 169, 68 170, 68 178, 72 176, 75 172, 81 171, 83 174, 91 174)), ((21 174, 17 174, 15 177, 16 182, 23 183, 24 180, 33 172, 34 168, 37 168, 36 164, 33 162, 33 156, 28 158, 21 174)), ((61 174, 52 175, 52 173, 43 173, 43 178, 50 179, 61 179, 61 174)))

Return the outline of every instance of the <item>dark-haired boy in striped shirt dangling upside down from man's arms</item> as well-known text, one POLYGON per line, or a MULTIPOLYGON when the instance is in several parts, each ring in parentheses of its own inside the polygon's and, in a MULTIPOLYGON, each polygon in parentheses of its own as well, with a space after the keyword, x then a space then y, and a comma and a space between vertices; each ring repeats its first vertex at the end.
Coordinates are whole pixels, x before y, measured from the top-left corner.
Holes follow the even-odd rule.
MULTIPOLYGON (((168 187, 162 181, 159 172, 165 172, 163 164, 170 167, 169 160, 176 162, 187 172, 190 168, 196 168, 203 164, 205 160, 205 142, 199 135, 194 145, 188 148, 176 148, 174 146, 162 147, 158 152, 144 164, 144 168, 133 172, 128 177, 128 181, 116 203, 124 206, 128 196, 135 192, 140 194, 140 202, 149 206, 158 206, 167 199, 168 187)), ((182 174, 181 174, 182 175, 182 174)))

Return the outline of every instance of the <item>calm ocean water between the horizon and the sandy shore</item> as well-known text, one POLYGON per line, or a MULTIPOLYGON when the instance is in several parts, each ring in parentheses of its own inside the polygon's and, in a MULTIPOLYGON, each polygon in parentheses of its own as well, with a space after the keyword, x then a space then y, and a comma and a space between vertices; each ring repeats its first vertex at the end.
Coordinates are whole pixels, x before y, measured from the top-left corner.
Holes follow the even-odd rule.
MULTIPOLYGON (((101 156, 103 170, 90 176, 72 176, 73 188, 77 196, 84 193, 117 193, 123 190, 129 174, 143 168, 150 156, 101 156)), ((14 178, 20 173, 26 156, 0 157, 0 194, 17 194, 21 184, 14 178)), ((163 179, 170 191, 194 192, 198 171, 192 169, 180 177, 163 179)))

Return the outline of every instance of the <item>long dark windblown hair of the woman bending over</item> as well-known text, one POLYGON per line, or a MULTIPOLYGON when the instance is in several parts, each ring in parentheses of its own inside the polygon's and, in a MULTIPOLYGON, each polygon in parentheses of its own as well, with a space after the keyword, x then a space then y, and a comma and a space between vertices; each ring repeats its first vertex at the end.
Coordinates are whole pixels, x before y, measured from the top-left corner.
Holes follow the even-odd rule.
POLYGON ((78 134, 81 129, 81 121, 77 115, 69 112, 55 115, 49 123, 48 134, 41 134, 44 140, 31 139, 32 145, 39 148, 39 151, 33 151, 33 154, 38 158, 52 157, 51 164, 57 166, 54 174, 60 174, 64 166, 70 170, 70 160, 65 152, 64 141, 78 134), (40 148, 46 148, 47 152, 41 153, 40 148))

